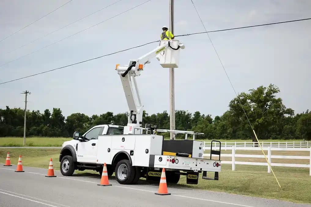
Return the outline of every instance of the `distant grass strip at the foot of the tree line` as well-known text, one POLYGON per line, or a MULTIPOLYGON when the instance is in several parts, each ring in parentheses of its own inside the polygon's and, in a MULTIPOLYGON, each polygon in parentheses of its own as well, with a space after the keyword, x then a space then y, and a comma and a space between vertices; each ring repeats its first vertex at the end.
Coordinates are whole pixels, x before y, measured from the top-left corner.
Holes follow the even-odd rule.
MULTIPOLYGON (((71 140, 71 137, 26 137, 26 146, 62 146, 63 142, 71 140)), ((169 138, 167 138, 169 139, 169 138)), ((189 137, 192 139, 192 137, 189 137)), ((200 140, 210 143, 211 140, 200 140)), ((251 142, 251 140, 219 140, 220 142, 251 142)), ((293 142, 302 140, 260 140, 261 142, 293 142)), ((23 137, 0 137, 0 146, 24 146, 23 137)))

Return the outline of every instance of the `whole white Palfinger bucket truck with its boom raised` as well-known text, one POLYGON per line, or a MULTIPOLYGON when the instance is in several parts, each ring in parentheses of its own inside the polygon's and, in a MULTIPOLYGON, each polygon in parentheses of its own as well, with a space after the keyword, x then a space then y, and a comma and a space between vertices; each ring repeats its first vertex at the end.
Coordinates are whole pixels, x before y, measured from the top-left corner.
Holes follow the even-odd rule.
MULTIPOLYGON (((197 184, 199 173, 202 173, 203 179, 218 180, 221 169, 219 141, 212 141, 219 142, 219 151, 211 148, 209 159, 204 159, 203 142, 164 140, 164 136, 157 135, 156 127, 151 127, 150 124, 142 127, 143 105, 136 77, 140 76, 153 57, 160 61, 163 68, 178 68, 180 49, 184 48, 179 40, 162 40, 158 47, 138 59, 130 60, 128 65, 116 65, 115 70, 120 76, 128 103, 128 124, 97 125, 82 136, 79 132, 74 132, 73 140, 63 143, 59 155, 63 175, 70 176, 74 170, 85 169, 101 173, 103 164, 106 163, 108 174, 115 172, 116 179, 121 184, 136 183, 141 177, 160 181, 162 168, 165 168, 169 183, 177 183, 180 175, 186 175, 187 183, 197 184), (219 155, 219 159, 213 160, 212 154, 219 155), (208 171, 215 172, 214 178, 207 178, 208 171)), ((181 132, 164 129, 159 131, 181 132)))

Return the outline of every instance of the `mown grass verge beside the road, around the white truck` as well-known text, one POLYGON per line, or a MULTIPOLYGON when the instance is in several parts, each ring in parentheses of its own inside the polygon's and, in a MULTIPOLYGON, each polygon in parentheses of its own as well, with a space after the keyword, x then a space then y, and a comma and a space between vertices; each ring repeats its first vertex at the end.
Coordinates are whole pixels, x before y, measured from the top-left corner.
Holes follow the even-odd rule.
MULTIPOLYGON (((54 169, 59 170, 59 149, 9 149, 9 151, 11 163, 14 165, 17 164, 18 156, 21 154, 23 166, 48 169, 49 158, 51 157, 54 169)), ((247 153, 246 151, 243 152, 243 154, 247 153)), ((258 152, 256 151, 256 153, 258 152)), ((7 149, 0 149, 0 162, 4 163, 6 156, 7 149)), ((219 181, 202 180, 202 174, 200 174, 201 178, 199 178, 198 185, 187 185, 185 176, 181 176, 179 184, 176 186, 311 203, 311 176, 309 176, 309 169, 307 168, 273 167, 282 187, 280 189, 272 173, 267 173, 266 166, 236 165, 236 171, 231 170, 230 164, 222 164, 221 166, 219 181)), ((93 170, 75 171, 75 173, 98 174, 93 170)), ((212 177, 211 174, 208 176, 212 177)), ((110 179, 114 178, 111 177, 110 179)), ((168 184, 168 188, 170 186, 172 185, 168 184)))

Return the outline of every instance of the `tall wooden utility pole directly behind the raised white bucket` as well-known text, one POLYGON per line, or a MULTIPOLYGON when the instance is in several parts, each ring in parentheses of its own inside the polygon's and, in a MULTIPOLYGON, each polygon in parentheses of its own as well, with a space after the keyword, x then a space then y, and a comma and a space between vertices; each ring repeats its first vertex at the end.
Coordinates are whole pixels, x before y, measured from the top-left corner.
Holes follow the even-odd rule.
MULTIPOLYGON (((174 34, 174 0, 169 0, 169 30, 174 34)), ((169 128, 175 130, 175 89, 174 68, 169 69, 169 128)), ((170 133, 170 139, 174 139, 174 133, 170 133)))

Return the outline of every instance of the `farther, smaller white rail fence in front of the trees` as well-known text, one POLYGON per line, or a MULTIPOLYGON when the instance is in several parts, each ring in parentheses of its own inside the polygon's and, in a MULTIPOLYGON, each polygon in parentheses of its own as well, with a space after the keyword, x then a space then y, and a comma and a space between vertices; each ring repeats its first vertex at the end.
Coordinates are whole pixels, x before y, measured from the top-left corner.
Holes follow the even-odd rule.
MULTIPOLYGON (((311 142, 260 142, 262 147, 278 147, 278 148, 309 148, 311 142)), ((204 142, 205 149, 211 148, 211 142, 204 142)), ((214 142, 213 146, 219 146, 218 142, 214 142)), ((259 147, 257 142, 221 142, 221 147, 259 147)), ((260 148, 260 147, 259 147, 260 148)))

